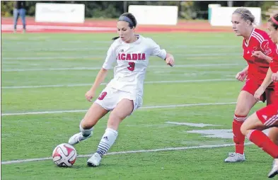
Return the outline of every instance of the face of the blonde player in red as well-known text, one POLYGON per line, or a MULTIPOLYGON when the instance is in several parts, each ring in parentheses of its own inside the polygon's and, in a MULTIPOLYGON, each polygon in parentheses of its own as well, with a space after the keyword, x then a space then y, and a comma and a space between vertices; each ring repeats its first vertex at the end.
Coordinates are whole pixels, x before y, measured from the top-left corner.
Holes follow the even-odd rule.
POLYGON ((241 18, 241 14, 233 13, 232 15, 232 27, 233 31, 237 36, 243 36, 246 32, 246 27, 248 27, 248 23, 241 18))

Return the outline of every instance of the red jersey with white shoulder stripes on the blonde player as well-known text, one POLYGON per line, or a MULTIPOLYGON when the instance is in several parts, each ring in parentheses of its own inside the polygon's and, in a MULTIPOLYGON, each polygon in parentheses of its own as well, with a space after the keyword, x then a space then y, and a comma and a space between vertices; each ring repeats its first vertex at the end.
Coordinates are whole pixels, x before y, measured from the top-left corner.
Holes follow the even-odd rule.
MULTIPOLYGON (((243 58, 248 62, 248 79, 257 81, 259 85, 262 84, 270 67, 270 63, 252 56, 252 52, 261 51, 265 55, 273 57, 275 49, 275 44, 265 31, 253 28, 248 43, 245 39, 243 40, 243 58)), ((273 86, 272 83, 269 87, 273 86)))

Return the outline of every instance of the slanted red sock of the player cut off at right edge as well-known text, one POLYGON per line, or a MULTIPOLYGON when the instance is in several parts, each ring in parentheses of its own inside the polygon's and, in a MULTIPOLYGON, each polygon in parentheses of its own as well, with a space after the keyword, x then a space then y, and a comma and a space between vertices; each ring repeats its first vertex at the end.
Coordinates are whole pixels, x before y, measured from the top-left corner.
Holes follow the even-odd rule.
POLYGON ((248 138, 255 145, 267 152, 267 154, 270 154, 273 158, 278 158, 278 146, 265 133, 262 133, 260 130, 252 130, 248 134, 248 138))

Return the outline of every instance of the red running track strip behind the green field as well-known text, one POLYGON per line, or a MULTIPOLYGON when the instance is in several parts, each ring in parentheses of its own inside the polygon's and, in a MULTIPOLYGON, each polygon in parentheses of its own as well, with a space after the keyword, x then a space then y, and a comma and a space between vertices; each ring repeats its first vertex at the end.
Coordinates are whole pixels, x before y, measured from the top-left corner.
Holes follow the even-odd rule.
MULTIPOLYGON (((91 20, 85 23, 37 23, 26 18, 28 33, 115 33, 116 20, 91 20)), ((22 30, 18 19, 18 32, 22 30)), ((137 32, 231 32, 231 27, 212 27, 205 21, 179 21, 177 26, 138 26, 137 32)), ((13 18, 1 18, 1 33, 13 32, 13 18)))

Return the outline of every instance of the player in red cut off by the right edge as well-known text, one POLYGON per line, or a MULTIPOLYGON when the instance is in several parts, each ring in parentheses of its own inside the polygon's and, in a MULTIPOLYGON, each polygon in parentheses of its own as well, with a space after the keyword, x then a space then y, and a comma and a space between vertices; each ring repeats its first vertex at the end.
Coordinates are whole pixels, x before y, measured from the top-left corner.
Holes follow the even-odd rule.
MULTIPOLYGON (((270 18, 267 29, 273 42, 278 43, 278 13, 270 18)), ((272 81, 274 81, 276 99, 271 105, 261 108, 248 117, 241 126, 241 133, 274 158, 272 170, 268 174, 272 178, 278 174, 278 145, 275 145, 278 140, 278 47, 274 51, 273 57, 266 56, 260 51, 253 52, 253 56, 270 61, 270 69, 260 88, 255 92, 255 99, 259 100, 261 94, 272 81), (262 133, 262 130, 267 128, 271 128, 270 137, 262 133)))

